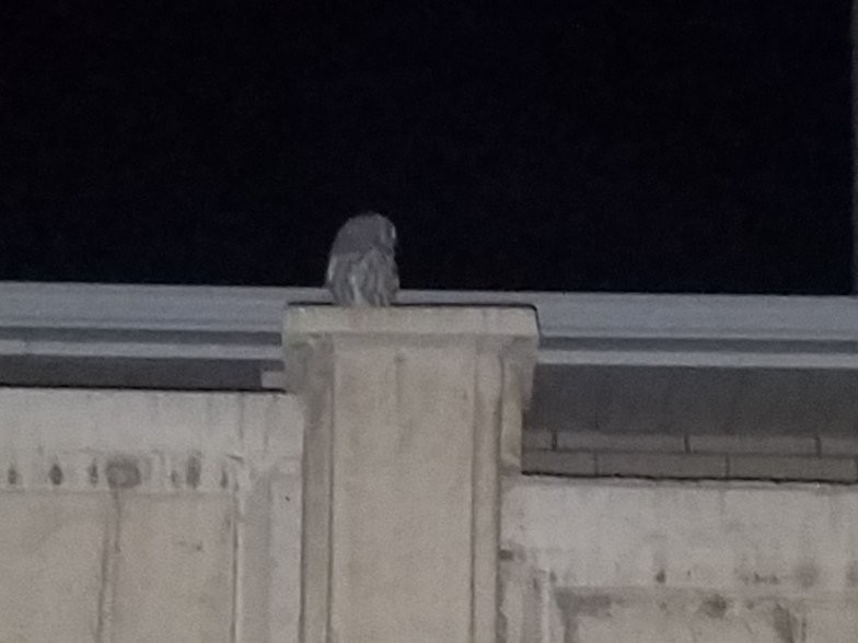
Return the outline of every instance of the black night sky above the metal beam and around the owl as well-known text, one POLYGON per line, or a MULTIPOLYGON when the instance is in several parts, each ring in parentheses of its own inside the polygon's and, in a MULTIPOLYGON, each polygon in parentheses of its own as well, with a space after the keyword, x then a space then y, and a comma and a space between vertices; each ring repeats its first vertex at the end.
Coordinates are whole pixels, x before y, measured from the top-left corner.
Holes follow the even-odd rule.
POLYGON ((848 291, 849 0, 398 4, 2 3, 0 279, 848 291))

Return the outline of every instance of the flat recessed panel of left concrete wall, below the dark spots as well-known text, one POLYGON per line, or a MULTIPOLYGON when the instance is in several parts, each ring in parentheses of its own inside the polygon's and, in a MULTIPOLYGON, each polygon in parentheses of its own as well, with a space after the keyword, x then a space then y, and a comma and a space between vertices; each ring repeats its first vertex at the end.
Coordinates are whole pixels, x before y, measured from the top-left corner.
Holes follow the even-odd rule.
POLYGON ((231 641, 233 500, 0 492, 0 641, 231 641))

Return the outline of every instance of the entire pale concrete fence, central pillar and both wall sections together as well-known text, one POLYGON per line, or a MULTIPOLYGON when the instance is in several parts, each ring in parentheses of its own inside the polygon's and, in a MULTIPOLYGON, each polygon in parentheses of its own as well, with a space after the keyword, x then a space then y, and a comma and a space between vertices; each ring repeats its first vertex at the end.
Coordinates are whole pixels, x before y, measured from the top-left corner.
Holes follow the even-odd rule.
POLYGON ((298 395, 0 389, 0 642, 858 640, 855 487, 525 477, 526 311, 290 315, 298 395))

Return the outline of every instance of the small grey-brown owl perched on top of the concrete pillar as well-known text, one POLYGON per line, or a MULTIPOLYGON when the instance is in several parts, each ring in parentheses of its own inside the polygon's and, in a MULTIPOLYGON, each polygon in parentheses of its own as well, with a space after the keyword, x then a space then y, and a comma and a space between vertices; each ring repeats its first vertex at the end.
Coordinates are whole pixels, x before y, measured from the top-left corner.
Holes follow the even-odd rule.
POLYGON ((399 290, 396 229, 382 214, 352 217, 337 232, 325 285, 337 306, 390 306, 399 290))

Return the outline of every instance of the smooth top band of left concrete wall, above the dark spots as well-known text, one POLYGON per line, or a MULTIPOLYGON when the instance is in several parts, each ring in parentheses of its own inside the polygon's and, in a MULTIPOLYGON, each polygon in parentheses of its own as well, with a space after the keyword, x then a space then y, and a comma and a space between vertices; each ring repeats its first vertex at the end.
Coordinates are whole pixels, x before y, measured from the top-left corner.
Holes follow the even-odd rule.
POLYGON ((3 455, 166 448, 297 461, 303 418, 281 394, 0 388, 0 428, 3 455))

